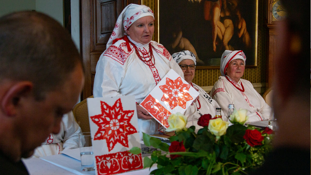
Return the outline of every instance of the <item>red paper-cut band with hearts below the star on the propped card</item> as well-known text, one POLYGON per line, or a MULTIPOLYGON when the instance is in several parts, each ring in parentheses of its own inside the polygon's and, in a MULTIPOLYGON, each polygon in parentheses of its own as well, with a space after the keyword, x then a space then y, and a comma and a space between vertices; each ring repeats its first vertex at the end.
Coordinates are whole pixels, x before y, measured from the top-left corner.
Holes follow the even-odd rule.
POLYGON ((142 154, 128 151, 95 156, 97 173, 101 175, 124 173, 142 169, 142 154))

